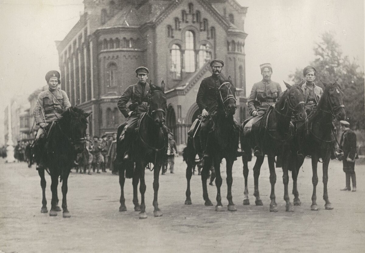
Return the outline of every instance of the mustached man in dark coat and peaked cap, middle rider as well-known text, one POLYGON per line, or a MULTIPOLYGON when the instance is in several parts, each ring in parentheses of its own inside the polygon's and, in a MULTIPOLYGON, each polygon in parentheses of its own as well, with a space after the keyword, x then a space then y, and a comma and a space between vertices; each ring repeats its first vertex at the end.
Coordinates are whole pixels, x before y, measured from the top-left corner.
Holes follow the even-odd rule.
MULTIPOLYGON (((204 78, 199 86, 198 94, 196 95, 196 103, 201 110, 201 117, 208 117, 209 114, 213 115, 215 113, 216 107, 218 105, 217 98, 219 94, 219 87, 223 83, 223 79, 220 76, 224 66, 224 62, 220 59, 215 59, 210 62, 210 67, 212 69, 212 75, 204 78)), ((239 139, 239 124, 234 119, 235 122, 235 132, 236 137, 239 139)), ((212 128, 212 120, 202 120, 200 124, 200 145, 203 150, 203 158, 208 158, 209 154, 207 151, 208 143, 208 132, 212 128)), ((241 148, 238 147, 237 142, 237 152, 236 156, 241 156, 243 154, 241 148)))

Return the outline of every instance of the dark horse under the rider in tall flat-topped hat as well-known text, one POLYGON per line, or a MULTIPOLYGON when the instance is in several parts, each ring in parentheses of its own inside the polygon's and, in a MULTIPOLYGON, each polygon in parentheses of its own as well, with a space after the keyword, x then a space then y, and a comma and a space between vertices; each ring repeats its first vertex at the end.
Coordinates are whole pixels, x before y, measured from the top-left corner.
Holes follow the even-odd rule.
MULTIPOLYGON (((271 184, 270 212, 277 212, 274 192, 276 183, 275 156, 282 155, 284 146, 293 138, 293 129, 290 126, 292 118, 296 116, 297 120, 304 121, 307 117, 304 109, 304 94, 300 86, 297 84, 290 86, 287 83, 285 83, 285 86, 287 86, 288 89, 284 91, 275 107, 269 107, 261 120, 258 120, 257 123, 259 124, 259 127, 255 127, 255 124, 252 124, 252 122, 255 121, 255 118, 248 121, 247 124, 244 122, 242 125, 243 133, 241 134, 241 146, 243 151, 245 151, 245 154, 242 155, 243 176, 245 177, 245 198, 243 204, 250 204, 247 189, 247 177, 249 174, 247 162, 251 161, 251 148, 254 148, 257 145, 256 142, 258 140, 260 142, 260 147, 262 147, 262 152, 268 155, 271 184)), ((260 175, 261 165, 264 162, 264 157, 265 156, 257 156, 253 167, 256 205, 262 205, 260 193, 258 191, 258 177, 260 175)), ((286 192, 288 192, 288 181, 288 166, 286 163, 283 163, 283 182, 284 190, 286 189, 286 192)), ((293 211, 287 193, 284 194, 284 200, 287 203, 286 211, 293 211)))

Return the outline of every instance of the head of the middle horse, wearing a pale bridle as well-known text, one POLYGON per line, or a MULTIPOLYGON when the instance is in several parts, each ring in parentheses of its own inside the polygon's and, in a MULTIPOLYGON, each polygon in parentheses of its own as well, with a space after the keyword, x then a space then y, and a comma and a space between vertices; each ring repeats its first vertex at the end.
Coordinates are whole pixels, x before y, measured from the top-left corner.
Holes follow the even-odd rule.
POLYGON ((231 76, 228 80, 223 81, 219 86, 219 101, 220 105, 223 107, 226 117, 233 115, 236 112, 236 88, 233 85, 231 76))

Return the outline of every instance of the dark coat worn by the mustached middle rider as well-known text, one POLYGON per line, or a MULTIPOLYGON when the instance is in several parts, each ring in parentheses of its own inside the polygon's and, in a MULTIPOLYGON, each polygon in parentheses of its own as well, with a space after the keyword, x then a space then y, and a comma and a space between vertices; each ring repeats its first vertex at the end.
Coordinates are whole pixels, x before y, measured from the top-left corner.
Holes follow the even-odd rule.
POLYGON ((196 95, 196 103, 198 104, 200 111, 205 109, 208 112, 211 112, 218 105, 218 89, 223 81, 224 80, 220 76, 218 78, 209 76, 201 80, 199 91, 196 95))

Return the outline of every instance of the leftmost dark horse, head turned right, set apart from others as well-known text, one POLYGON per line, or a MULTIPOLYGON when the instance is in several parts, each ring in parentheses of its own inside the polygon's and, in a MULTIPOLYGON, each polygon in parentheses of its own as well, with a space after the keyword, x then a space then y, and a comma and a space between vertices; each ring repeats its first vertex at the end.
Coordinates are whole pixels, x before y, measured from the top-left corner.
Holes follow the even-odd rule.
MULTIPOLYGON (((61 211, 58 207, 57 186, 58 177, 62 183, 62 209, 63 217, 69 218, 71 215, 67 209, 67 180, 70 174, 71 166, 75 161, 77 153, 82 152, 85 142, 85 133, 87 128, 87 117, 91 113, 85 113, 83 110, 72 107, 62 113, 62 118, 47 127, 49 130, 46 143, 42 151, 36 151, 35 159, 39 162, 44 161, 44 165, 48 168, 47 171, 51 176, 51 210, 50 216, 56 216, 57 211, 61 211), (50 128, 50 129, 49 129, 50 128), (43 156, 41 158, 41 156, 43 156)), ((37 150, 37 148, 35 149, 37 150)), ((42 187, 42 213, 48 212, 46 200, 46 179, 45 169, 38 169, 38 174, 41 177, 42 187)))

